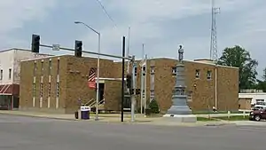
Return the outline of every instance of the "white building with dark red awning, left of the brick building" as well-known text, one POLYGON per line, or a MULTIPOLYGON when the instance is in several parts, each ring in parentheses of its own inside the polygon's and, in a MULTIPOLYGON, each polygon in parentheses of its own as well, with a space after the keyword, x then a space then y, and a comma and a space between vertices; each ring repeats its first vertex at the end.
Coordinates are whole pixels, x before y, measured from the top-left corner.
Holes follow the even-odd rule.
POLYGON ((0 51, 0 109, 19 107, 20 60, 48 56, 23 49, 0 51))

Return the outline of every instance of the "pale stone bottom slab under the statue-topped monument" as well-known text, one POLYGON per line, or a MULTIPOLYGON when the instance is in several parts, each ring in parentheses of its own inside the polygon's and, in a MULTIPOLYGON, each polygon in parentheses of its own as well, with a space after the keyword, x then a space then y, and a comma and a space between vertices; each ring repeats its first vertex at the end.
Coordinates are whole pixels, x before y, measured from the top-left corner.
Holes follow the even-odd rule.
POLYGON ((164 114, 163 117, 173 122, 197 122, 194 114, 164 114))

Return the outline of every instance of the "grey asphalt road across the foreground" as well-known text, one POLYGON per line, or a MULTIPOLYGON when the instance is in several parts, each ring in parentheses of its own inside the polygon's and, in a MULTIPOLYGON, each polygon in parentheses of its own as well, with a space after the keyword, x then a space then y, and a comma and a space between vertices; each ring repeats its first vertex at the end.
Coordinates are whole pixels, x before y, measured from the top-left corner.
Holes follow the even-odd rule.
POLYGON ((265 133, 253 126, 162 127, 0 114, 1 150, 262 150, 265 133))

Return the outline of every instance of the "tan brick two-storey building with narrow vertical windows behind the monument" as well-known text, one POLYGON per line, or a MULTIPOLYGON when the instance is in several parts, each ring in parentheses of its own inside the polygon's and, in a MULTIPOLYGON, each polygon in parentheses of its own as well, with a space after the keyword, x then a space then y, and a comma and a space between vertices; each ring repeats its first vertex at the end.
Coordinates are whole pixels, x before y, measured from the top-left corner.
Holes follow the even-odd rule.
MULTIPOLYGON (((137 61, 140 62, 140 61, 137 61)), ((176 82, 176 59, 147 60, 147 101, 154 98, 165 112, 171 106, 176 82)), ((215 64, 207 60, 184 60, 189 106, 204 111, 215 106, 215 64)), ((96 91, 88 87, 91 67, 97 59, 71 55, 27 59, 20 64, 20 108, 73 113, 78 99, 96 99, 96 91)), ((137 88, 141 68, 137 67, 137 88)), ((119 111, 121 102, 121 62, 100 59, 100 99, 107 110, 119 111), (104 95, 104 96, 103 96, 104 95)), ((137 97, 137 107, 140 97, 137 97)), ((217 109, 237 110, 239 106, 239 69, 217 66, 217 109)))

